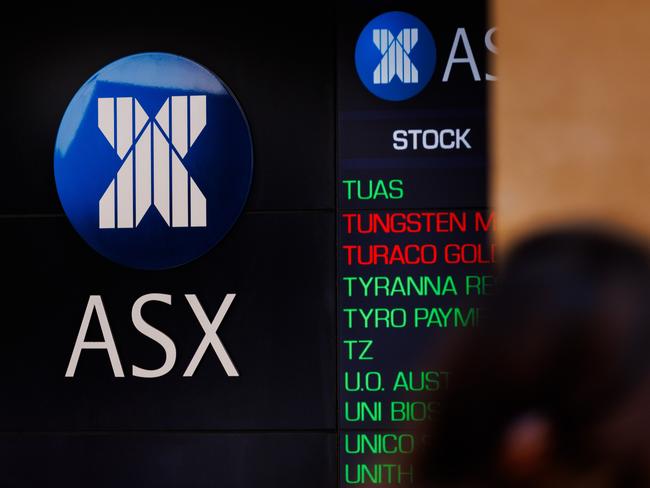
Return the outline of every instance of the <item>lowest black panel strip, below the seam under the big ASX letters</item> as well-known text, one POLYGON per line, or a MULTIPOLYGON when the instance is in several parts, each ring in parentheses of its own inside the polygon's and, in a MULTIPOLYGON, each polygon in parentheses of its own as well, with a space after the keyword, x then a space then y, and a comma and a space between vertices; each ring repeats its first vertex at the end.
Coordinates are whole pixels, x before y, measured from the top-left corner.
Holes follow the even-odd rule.
POLYGON ((0 434, 2 486, 330 488, 334 443, 320 433, 0 434))

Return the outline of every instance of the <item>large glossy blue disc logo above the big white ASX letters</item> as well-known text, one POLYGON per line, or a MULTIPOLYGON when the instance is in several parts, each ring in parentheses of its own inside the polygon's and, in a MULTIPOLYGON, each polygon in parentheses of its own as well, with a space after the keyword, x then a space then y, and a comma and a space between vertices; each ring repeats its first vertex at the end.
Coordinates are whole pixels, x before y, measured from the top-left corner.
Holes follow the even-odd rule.
POLYGON ((237 100, 189 59, 143 53, 94 74, 68 105, 54 149, 63 209, 97 252, 166 269, 215 246, 253 174, 237 100))

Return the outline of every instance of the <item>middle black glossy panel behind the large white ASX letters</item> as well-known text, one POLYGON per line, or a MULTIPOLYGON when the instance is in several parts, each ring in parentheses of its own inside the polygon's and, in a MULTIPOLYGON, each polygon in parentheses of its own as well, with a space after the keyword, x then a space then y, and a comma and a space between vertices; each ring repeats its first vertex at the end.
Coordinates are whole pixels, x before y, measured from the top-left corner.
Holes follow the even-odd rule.
MULTIPOLYGON (((96 254, 64 218, 2 219, 0 430, 332 429, 335 427, 334 240, 330 213, 244 215, 215 249, 181 268, 129 270, 96 254), (175 343, 174 369, 158 368, 160 345, 131 323, 146 293, 171 306, 143 308, 175 343), (218 337, 239 370, 228 377, 210 348, 182 375, 203 339, 184 294, 212 319, 226 293, 237 297, 218 337), (89 295, 101 295, 125 378, 105 351, 82 352, 64 377, 89 295), (11 317, 11 319, 9 319, 11 317)), ((95 318, 89 340, 100 340, 95 318)))

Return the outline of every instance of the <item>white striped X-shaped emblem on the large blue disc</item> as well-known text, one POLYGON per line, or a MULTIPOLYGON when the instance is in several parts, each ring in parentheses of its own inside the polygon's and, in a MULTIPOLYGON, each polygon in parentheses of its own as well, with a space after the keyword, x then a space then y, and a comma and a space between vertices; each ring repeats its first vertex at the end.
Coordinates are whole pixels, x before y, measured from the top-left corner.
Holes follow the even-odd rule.
POLYGON ((168 226, 207 226, 206 199, 182 163, 206 126, 205 95, 167 98, 154 119, 132 97, 98 98, 97 125, 122 166, 99 200, 99 228, 137 227, 149 207, 168 226))

